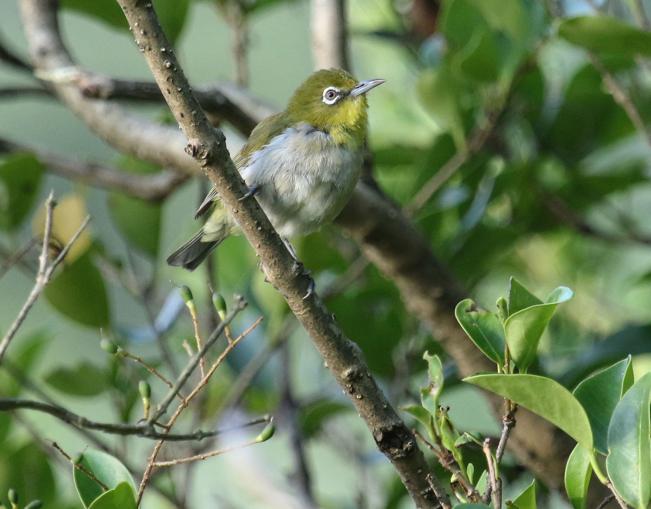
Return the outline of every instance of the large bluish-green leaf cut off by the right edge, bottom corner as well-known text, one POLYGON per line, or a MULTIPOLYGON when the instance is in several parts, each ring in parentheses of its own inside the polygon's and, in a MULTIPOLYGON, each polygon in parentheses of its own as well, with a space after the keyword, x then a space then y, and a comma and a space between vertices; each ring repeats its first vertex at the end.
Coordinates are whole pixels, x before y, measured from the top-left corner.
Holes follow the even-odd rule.
POLYGON ((606 469, 624 502, 645 509, 651 498, 651 373, 622 396, 608 428, 606 469))

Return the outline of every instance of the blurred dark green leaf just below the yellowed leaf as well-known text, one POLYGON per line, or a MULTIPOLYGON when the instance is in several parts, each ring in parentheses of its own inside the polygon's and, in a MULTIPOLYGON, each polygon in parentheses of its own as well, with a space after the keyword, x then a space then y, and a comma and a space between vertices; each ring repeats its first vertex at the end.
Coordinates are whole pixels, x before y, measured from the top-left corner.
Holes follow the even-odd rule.
POLYGON ((43 292, 49 304, 66 317, 89 327, 109 325, 109 301, 100 271, 88 252, 64 267, 43 292))

